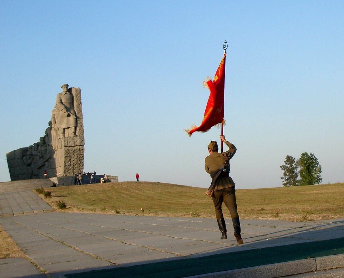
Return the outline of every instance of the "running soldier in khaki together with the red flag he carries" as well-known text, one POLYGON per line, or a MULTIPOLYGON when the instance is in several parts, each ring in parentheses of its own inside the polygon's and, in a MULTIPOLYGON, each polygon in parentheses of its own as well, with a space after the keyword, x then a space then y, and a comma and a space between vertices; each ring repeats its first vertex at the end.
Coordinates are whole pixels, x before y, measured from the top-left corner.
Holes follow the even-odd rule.
POLYGON ((244 243, 241 238, 241 229, 237 204, 235 197, 235 183, 229 177, 229 160, 236 152, 236 147, 229 143, 223 135, 224 120, 224 97, 225 97, 225 66, 226 66, 226 49, 227 42, 223 44, 225 53, 217 68, 214 80, 208 78, 204 81, 204 86, 210 90, 210 95, 204 112, 202 123, 192 126, 191 129, 185 130, 189 136, 194 132, 206 132, 214 125, 221 124, 221 153, 218 153, 216 141, 211 141, 208 145, 209 156, 205 158, 205 170, 212 177, 212 184, 206 194, 212 197, 215 207, 215 215, 219 230, 222 233, 221 239, 227 238, 226 223, 223 217, 222 204, 225 203, 229 210, 234 226, 234 236, 239 244, 244 243), (228 151, 223 151, 223 143, 228 146, 228 151))

